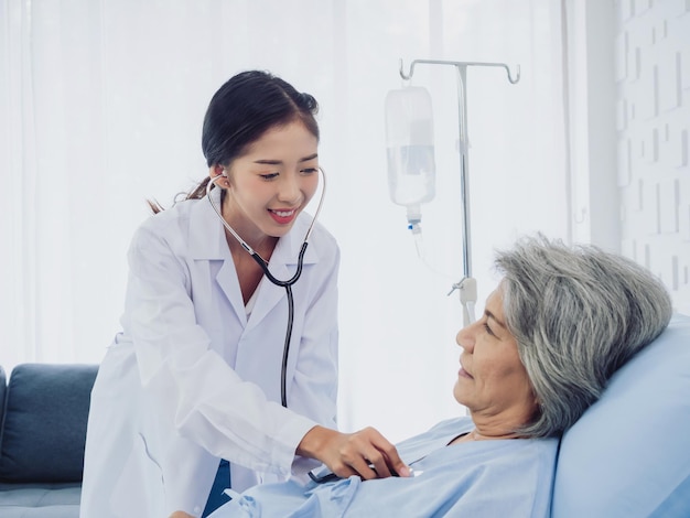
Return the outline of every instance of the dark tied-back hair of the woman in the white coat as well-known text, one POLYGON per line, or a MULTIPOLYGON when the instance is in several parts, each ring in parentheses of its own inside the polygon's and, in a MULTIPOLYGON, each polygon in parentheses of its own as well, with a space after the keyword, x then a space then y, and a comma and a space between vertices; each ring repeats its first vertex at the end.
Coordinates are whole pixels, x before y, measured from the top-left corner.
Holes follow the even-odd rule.
MULTIPOLYGON (((202 150, 208 166, 229 166, 268 130, 300 121, 319 141, 319 104, 310 94, 269 72, 247 71, 228 79, 214 94, 206 109, 202 150)), ((206 195, 206 176, 184 199, 206 195)), ((149 202, 154 213, 158 204, 149 202)))

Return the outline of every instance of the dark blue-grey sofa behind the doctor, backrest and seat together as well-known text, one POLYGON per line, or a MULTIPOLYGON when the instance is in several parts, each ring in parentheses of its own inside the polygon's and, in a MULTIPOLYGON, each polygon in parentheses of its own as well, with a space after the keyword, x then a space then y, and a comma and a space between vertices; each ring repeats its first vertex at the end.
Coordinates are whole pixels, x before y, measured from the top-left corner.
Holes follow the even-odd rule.
POLYGON ((77 518, 96 365, 0 367, 0 517, 77 518))

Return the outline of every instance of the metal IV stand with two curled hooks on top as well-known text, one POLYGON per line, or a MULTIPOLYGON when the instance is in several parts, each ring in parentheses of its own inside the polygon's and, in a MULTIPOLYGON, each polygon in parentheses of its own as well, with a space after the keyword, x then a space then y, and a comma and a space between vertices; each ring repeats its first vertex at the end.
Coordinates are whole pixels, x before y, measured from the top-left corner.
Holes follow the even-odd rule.
POLYGON ((460 290, 460 302, 463 306, 463 325, 467 326, 475 321, 474 317, 474 304, 477 300, 477 283, 472 277, 472 258, 470 246, 470 161, 467 157, 468 141, 467 141, 467 67, 468 66, 499 66, 505 68, 508 75, 508 82, 515 85, 520 80, 520 65, 517 66, 517 74, 515 78, 510 74, 510 68, 504 63, 482 63, 482 62, 452 62, 452 61, 438 61, 438 60, 414 60, 410 64, 410 72, 406 74, 402 69, 402 60, 400 60, 400 77, 405 80, 410 80, 414 73, 414 65, 452 65, 457 71, 457 123, 459 123, 459 151, 460 151, 460 190, 463 205, 463 278, 459 282, 455 282, 449 295, 455 290, 460 290))

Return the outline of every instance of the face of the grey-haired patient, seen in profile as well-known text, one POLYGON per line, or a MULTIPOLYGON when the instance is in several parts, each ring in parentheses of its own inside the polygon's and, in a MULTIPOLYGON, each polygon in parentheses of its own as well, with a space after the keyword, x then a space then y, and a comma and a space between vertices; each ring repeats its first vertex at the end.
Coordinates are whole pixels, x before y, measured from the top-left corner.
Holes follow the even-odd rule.
POLYGON ((506 425, 529 422, 536 398, 515 337, 505 326, 500 287, 486 300, 482 317, 457 333, 463 347, 455 399, 478 417, 506 425))

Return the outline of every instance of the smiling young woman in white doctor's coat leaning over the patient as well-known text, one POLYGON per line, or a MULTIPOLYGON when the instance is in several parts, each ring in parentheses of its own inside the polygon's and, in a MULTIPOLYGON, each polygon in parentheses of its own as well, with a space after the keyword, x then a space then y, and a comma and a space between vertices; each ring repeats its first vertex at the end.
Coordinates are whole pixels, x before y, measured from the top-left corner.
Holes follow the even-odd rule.
POLYGON ((168 211, 152 204, 130 246, 122 332, 91 393, 82 518, 200 517, 222 460, 220 488, 237 492, 305 473, 310 458, 342 476, 408 473, 375 430, 332 430, 334 238, 313 226, 290 295, 248 252, 278 280, 298 271, 313 225, 302 211, 319 184, 316 110, 312 96, 257 71, 213 96, 208 177, 168 211))

